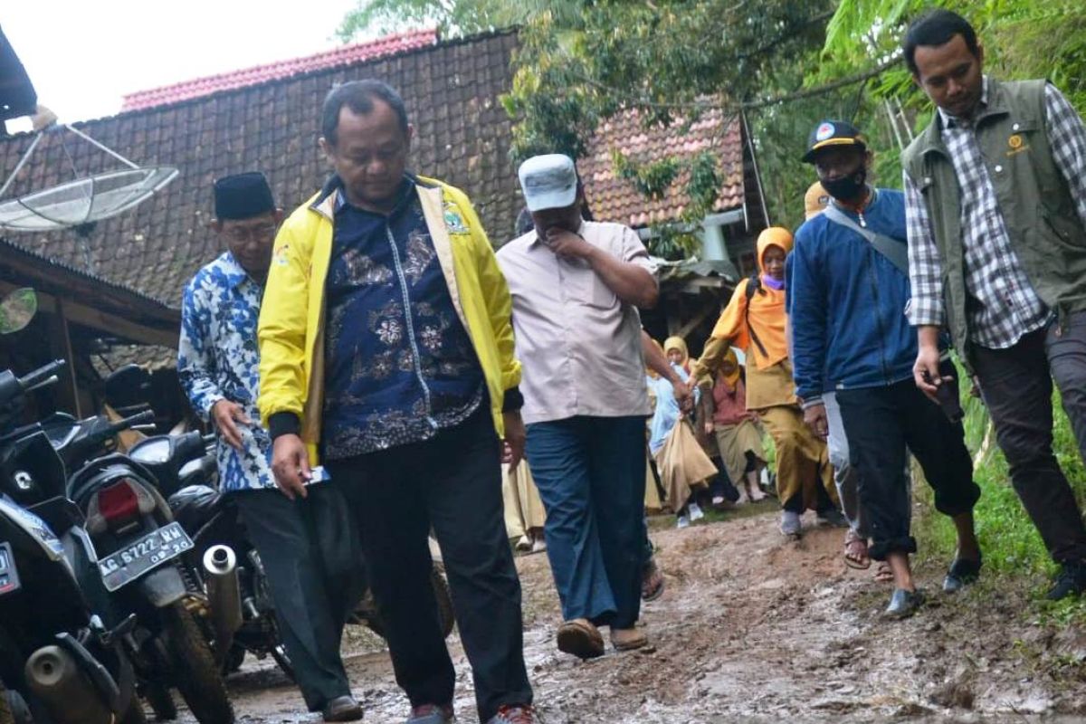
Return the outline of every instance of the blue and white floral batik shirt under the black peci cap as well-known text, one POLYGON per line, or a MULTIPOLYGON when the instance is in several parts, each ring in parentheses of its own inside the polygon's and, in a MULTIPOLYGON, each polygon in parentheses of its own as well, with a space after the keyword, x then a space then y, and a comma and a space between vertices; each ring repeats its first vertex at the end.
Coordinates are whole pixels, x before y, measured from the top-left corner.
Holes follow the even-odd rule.
POLYGON ((177 374, 193 409, 206 422, 220 399, 241 405, 251 424, 238 424, 242 449, 218 441, 223 492, 274 488, 272 439, 256 409, 260 352, 256 320, 264 288, 230 252, 200 269, 185 288, 177 374))

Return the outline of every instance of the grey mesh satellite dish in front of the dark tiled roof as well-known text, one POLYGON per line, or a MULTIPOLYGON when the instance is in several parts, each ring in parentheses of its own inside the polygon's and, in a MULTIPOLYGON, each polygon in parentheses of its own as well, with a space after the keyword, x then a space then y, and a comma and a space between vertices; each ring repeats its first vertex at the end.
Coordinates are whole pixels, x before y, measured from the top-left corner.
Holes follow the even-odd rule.
MULTIPOLYGON (((30 147, 0 188, 0 199, 34 154, 45 134, 64 130, 109 153, 128 168, 77 176, 48 189, 0 201, 0 228, 17 231, 49 231, 70 227, 86 229, 87 225, 116 216, 146 201, 177 178, 179 173, 173 166, 137 166, 72 126, 53 126, 35 136, 30 147)), ((63 139, 61 143, 64 143, 63 139)))

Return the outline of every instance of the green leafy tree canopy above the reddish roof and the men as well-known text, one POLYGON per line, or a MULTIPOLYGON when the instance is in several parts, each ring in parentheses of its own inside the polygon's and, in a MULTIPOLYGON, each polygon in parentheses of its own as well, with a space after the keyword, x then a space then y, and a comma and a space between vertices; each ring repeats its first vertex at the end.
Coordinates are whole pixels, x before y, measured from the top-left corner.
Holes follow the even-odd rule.
MULTIPOLYGON (((446 35, 520 26, 514 82, 503 98, 516 119, 514 155, 561 151, 580 157, 602 120, 636 110, 646 125, 704 113, 743 112, 755 139, 773 223, 796 226, 813 180, 798 161, 820 119, 863 128, 874 179, 900 180, 899 151, 931 117, 900 62, 907 22, 926 0, 361 0, 340 35, 435 24, 446 35)), ((1081 0, 942 0, 977 27, 988 66, 1002 77, 1048 76, 1086 110, 1086 3, 1081 0)), ((710 158, 665 158, 644 167, 614 158, 646 198, 677 178, 695 200, 686 221, 711 204, 710 158), (695 168, 696 166, 696 168, 695 168), (696 172, 696 173, 695 173, 696 172)), ((686 225, 689 227, 689 224, 686 225)), ((667 234, 665 234, 667 236, 667 234)), ((672 234, 673 237, 674 234, 672 234)), ((669 242, 670 243, 670 242, 669 242)))

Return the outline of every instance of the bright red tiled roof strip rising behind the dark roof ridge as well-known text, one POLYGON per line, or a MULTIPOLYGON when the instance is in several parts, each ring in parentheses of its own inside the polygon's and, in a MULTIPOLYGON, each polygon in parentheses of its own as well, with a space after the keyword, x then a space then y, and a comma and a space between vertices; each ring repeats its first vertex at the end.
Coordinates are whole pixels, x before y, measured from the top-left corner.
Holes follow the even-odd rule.
POLYGON ((393 55, 406 50, 425 48, 438 42, 435 29, 411 30, 397 35, 389 35, 369 42, 343 46, 315 55, 294 58, 287 61, 256 65, 241 71, 220 73, 218 75, 184 80, 171 86, 138 90, 124 97, 121 106, 124 111, 137 111, 155 105, 177 103, 192 98, 200 98, 220 90, 230 90, 253 86, 267 80, 288 78, 300 73, 312 73, 340 65, 352 65, 363 61, 372 61, 386 55, 393 55))

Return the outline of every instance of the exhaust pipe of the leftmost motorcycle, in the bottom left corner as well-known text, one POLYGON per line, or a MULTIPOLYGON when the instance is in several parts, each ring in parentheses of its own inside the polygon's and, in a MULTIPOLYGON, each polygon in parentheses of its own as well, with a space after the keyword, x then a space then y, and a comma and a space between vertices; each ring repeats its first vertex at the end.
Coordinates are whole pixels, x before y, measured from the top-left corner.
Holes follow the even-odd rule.
POLYGON ((43 646, 26 661, 27 686, 56 724, 111 724, 113 712, 75 658, 59 646, 43 646))

